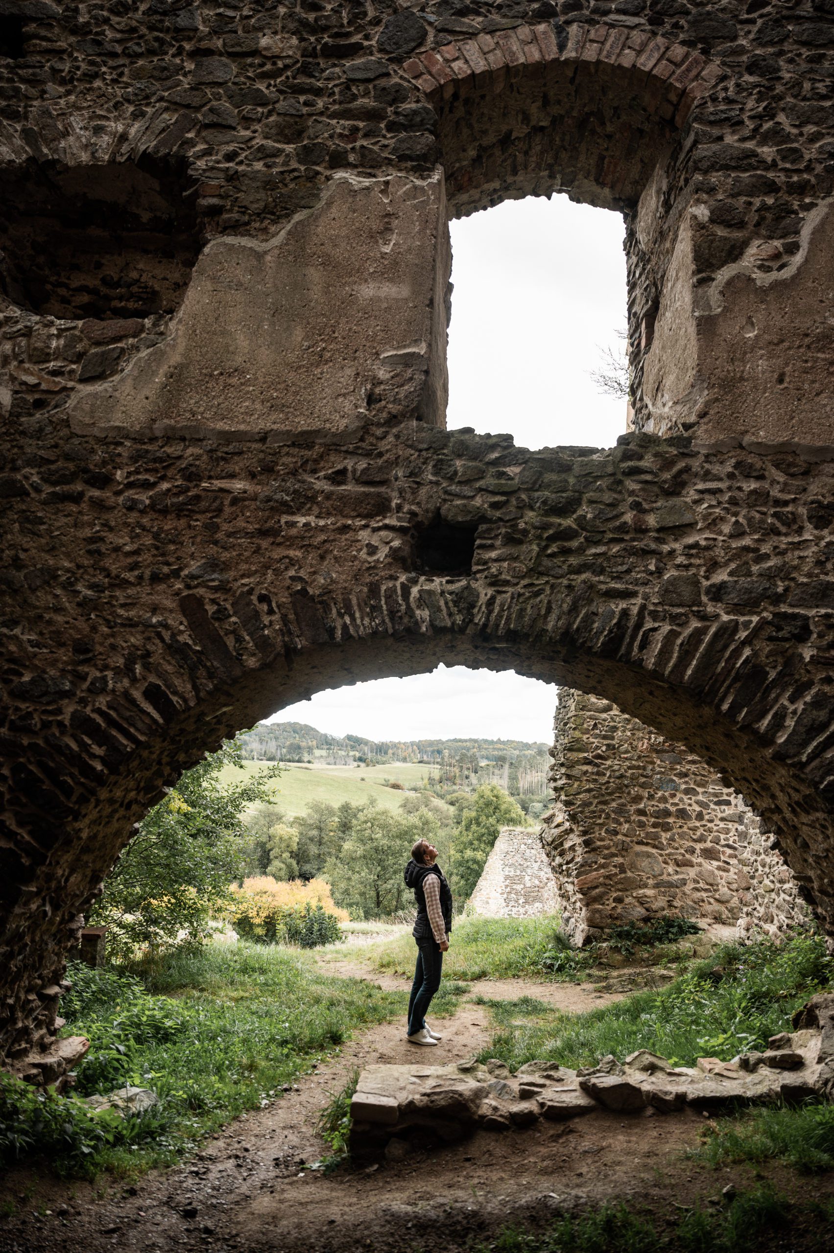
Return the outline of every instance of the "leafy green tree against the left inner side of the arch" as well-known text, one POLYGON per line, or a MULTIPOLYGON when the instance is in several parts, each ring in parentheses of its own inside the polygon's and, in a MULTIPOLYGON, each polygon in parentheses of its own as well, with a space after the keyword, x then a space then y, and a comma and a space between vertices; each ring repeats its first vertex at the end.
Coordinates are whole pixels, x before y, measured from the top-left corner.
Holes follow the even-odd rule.
POLYGON ((197 945, 223 912, 245 858, 243 813, 270 799, 280 774, 273 766, 245 782, 221 783, 224 766, 243 769, 237 739, 186 771, 123 850, 89 918, 109 928, 113 956, 197 945))

